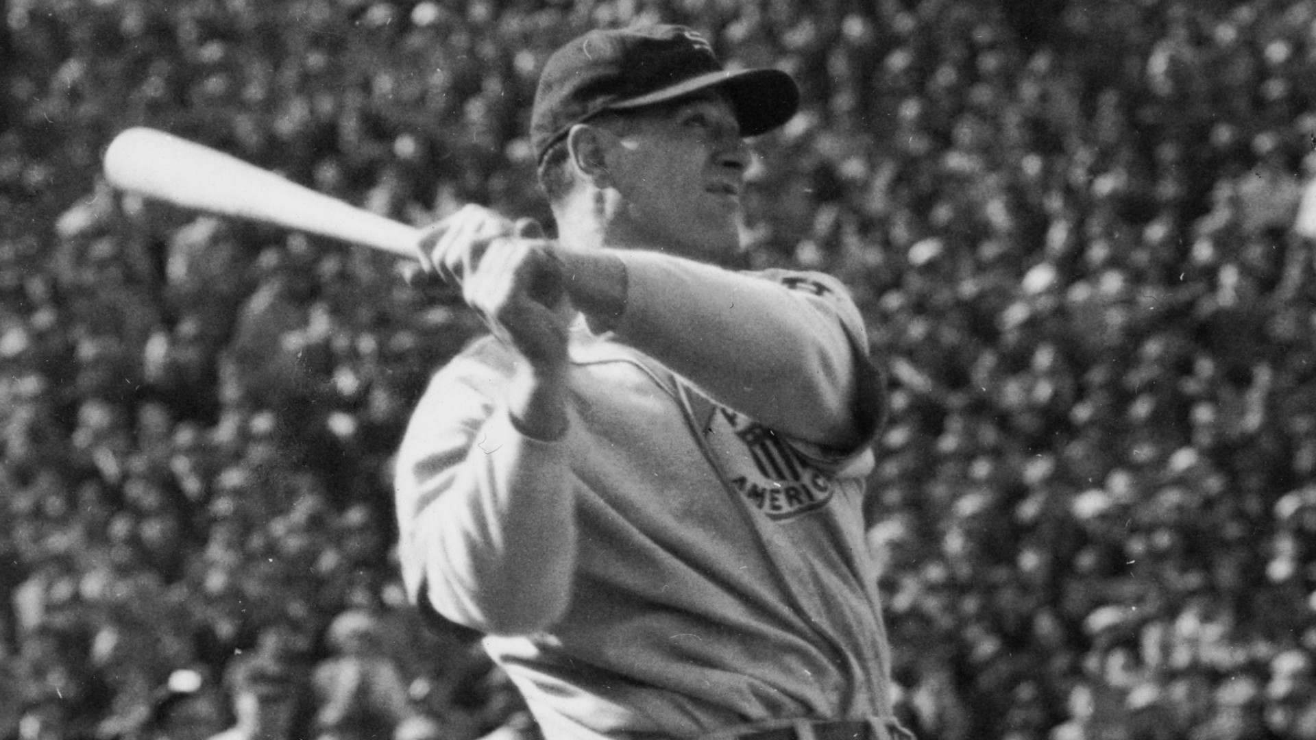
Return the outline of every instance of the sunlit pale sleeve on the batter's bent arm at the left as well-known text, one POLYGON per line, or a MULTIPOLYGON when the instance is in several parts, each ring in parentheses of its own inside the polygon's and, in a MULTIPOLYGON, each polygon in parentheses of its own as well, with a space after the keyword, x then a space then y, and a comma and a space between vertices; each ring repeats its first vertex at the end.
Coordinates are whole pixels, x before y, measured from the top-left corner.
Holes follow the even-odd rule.
POLYGON ((496 345, 430 382, 395 470, 399 560, 408 595, 487 633, 542 629, 566 611, 575 512, 565 441, 526 437, 504 394, 496 345))

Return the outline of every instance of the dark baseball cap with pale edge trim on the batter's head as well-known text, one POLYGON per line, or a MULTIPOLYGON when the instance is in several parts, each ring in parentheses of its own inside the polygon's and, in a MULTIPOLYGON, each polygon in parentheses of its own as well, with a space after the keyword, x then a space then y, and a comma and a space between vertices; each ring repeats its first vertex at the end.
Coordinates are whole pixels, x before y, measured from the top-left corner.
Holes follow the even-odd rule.
POLYGON ((549 57, 530 113, 530 144, 542 159, 572 125, 716 88, 726 93, 741 136, 791 120, 800 92, 782 70, 726 70, 712 45, 679 25, 591 30, 549 57))

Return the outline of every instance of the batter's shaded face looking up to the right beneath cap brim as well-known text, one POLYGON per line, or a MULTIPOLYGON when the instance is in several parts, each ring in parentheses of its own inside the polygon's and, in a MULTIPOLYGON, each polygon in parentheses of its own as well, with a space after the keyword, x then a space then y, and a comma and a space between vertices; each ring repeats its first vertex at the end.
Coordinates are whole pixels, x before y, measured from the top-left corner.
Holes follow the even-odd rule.
POLYGON ((616 226, 658 249, 722 261, 740 249, 749 151, 717 93, 626 115, 608 159, 621 195, 616 226))

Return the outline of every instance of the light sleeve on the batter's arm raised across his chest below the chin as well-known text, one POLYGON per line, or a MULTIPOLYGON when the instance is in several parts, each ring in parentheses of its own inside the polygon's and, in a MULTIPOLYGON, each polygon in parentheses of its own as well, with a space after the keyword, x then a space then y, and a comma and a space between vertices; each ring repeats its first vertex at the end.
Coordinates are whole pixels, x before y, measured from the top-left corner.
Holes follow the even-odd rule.
POLYGON ((850 453, 880 420, 880 382, 858 308, 821 273, 734 273, 625 251, 617 337, 717 403, 819 450, 850 453))

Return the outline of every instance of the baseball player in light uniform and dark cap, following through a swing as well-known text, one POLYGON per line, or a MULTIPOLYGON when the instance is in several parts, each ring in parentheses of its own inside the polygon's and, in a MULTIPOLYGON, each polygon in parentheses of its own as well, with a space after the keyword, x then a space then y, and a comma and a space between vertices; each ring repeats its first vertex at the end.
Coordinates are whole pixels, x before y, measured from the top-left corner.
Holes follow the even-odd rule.
POLYGON ((595 30, 532 113, 555 240, 468 207, 422 245, 486 319, 397 458, 400 560, 549 740, 888 740, 861 499, 880 384, 833 278, 721 267, 778 70, 595 30))

